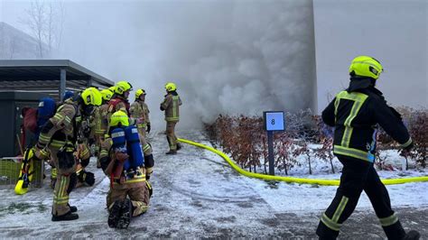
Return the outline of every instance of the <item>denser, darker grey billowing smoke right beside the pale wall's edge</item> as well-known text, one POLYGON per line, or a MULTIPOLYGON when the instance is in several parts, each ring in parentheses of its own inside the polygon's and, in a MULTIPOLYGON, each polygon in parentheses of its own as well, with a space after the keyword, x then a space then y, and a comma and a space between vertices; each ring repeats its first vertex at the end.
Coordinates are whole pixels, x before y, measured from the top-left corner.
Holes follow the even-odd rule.
POLYGON ((191 65, 195 115, 261 115, 312 107, 316 97, 311 1, 235 2, 230 29, 191 65))

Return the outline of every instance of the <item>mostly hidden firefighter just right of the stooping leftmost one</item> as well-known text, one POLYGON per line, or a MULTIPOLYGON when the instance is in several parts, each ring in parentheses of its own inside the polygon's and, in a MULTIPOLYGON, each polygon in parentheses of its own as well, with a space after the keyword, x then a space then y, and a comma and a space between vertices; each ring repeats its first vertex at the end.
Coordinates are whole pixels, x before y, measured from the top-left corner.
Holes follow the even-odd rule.
POLYGON ((111 97, 113 97, 113 92, 110 89, 101 90, 101 95, 103 96, 102 105, 97 107, 97 110, 94 112, 94 118, 96 123, 95 128, 95 137, 96 137, 96 147, 98 152, 97 155, 97 168, 101 168, 99 163, 99 152, 101 149, 101 143, 104 141, 104 135, 107 133, 107 113, 108 113, 108 102, 111 97))

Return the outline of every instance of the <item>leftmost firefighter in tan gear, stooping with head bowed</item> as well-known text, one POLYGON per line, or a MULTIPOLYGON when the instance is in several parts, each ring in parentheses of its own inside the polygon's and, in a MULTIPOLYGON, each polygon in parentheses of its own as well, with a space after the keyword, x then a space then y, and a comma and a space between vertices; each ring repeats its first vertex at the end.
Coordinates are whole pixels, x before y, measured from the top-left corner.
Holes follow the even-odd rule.
POLYGON ((73 184, 70 176, 76 171, 73 152, 76 151, 76 117, 91 115, 94 106, 101 104, 101 94, 97 88, 85 89, 79 97, 69 98, 58 107, 56 114, 43 126, 34 155, 45 159, 48 152, 51 162, 58 171, 58 180, 53 190, 52 221, 74 220, 79 218, 76 207, 69 205, 69 193, 73 184), (69 186, 70 185, 70 186, 69 186))

